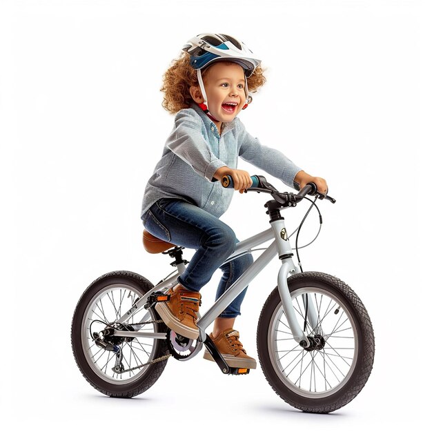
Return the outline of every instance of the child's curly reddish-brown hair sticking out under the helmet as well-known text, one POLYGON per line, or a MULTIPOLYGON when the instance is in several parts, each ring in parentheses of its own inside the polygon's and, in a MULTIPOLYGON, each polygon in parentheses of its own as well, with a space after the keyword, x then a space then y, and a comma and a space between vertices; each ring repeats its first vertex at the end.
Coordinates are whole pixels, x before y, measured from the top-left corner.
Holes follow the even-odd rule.
MULTIPOLYGON (((206 70, 203 70, 203 78, 205 75, 206 70)), ((248 77, 249 92, 256 92, 265 82, 264 69, 257 66, 251 77, 248 77)), ((182 52, 178 59, 173 60, 164 74, 161 87, 161 92, 164 92, 162 106, 173 114, 183 108, 190 108, 193 104, 193 99, 189 93, 191 86, 199 86, 197 71, 190 66, 190 56, 186 52, 182 52)))

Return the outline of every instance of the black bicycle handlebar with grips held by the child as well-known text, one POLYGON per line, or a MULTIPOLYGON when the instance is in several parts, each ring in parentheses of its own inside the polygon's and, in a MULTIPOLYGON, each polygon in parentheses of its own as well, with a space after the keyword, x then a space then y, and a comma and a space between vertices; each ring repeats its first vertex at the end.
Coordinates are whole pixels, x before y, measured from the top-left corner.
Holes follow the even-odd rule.
MULTIPOLYGON (((270 193, 273 198, 280 202, 281 204, 284 202, 300 202, 306 195, 315 195, 318 196, 319 199, 328 199, 331 203, 335 204, 336 200, 328 195, 324 195, 317 190, 317 186, 315 183, 308 183, 306 186, 304 186, 299 193, 293 194, 293 193, 282 193, 279 192, 273 185, 268 183, 265 177, 262 175, 251 175, 252 179, 252 186, 248 189, 246 189, 246 192, 248 190, 255 191, 255 192, 264 192, 264 193, 270 193)), ((234 188, 234 181, 233 178, 230 175, 224 175, 221 180, 222 186, 224 188, 234 188)))

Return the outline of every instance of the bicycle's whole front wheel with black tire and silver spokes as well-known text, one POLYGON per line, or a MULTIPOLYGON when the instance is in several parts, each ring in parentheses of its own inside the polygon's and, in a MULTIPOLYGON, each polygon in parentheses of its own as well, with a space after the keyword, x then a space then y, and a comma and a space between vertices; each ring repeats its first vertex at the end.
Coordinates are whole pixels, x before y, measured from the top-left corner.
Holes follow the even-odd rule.
POLYGON ((309 272, 287 282, 311 346, 295 342, 275 288, 259 317, 259 362, 268 383, 288 404, 311 413, 335 411, 360 393, 371 374, 371 320, 359 297, 336 277, 309 272), (314 323, 308 308, 317 312, 314 323))

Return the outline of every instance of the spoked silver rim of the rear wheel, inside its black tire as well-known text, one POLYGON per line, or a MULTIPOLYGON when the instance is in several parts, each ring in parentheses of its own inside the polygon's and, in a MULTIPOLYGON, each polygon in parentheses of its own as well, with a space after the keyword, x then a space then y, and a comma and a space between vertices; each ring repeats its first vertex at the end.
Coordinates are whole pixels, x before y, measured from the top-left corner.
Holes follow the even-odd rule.
MULTIPOLYGON (((81 342, 84 356, 92 370, 104 381, 112 384, 129 384, 138 380, 146 373, 148 366, 128 371, 116 373, 112 371, 115 366, 116 354, 106 351, 95 344, 90 336, 91 332, 99 333, 106 328, 106 324, 115 322, 141 297, 142 293, 134 286, 128 284, 112 284, 99 291, 88 303, 84 312, 83 323, 81 324, 81 342), (97 322, 97 320, 103 322, 97 322)), ((146 311, 144 307, 139 308, 132 317, 128 318, 127 323, 143 322, 147 314, 146 321, 155 320, 153 311, 146 311), (150 317, 148 316, 150 313, 150 317)), ((146 324, 140 331, 156 332, 156 324, 146 324)), ((131 369, 140 364, 145 364, 153 359, 156 350, 156 340, 145 338, 144 342, 135 338, 131 342, 119 344, 123 353, 122 363, 124 369, 131 369)))

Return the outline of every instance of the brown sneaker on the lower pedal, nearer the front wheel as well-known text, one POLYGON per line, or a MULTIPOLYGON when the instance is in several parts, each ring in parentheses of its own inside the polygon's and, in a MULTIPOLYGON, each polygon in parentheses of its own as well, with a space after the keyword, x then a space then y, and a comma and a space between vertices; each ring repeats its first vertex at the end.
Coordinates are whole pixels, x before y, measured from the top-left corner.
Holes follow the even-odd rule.
MULTIPOLYGON (((246 355, 243 344, 239 341, 239 332, 237 330, 228 328, 216 339, 213 337, 213 333, 210 333, 210 339, 213 340, 217 351, 222 354, 226 364, 231 368, 257 369, 256 360, 246 355)), ((204 351, 204 358, 213 362, 215 361, 207 350, 204 351)))

